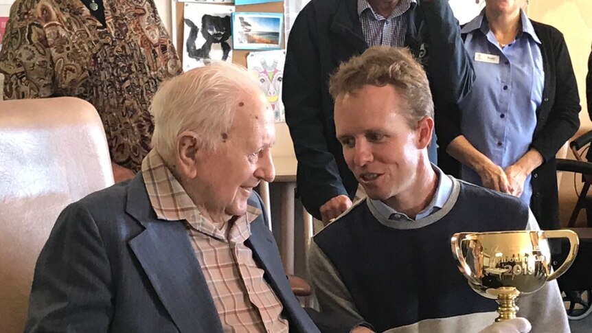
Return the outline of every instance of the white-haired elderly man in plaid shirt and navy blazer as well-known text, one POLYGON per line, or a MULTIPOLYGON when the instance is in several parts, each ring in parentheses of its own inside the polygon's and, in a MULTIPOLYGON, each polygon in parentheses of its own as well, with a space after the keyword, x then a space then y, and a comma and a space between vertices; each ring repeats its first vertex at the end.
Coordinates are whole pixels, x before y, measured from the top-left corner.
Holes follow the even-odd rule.
POLYGON ((26 332, 319 332, 253 192, 274 178, 273 111, 256 82, 234 65, 195 69, 164 84, 151 112, 135 179, 58 218, 26 332))

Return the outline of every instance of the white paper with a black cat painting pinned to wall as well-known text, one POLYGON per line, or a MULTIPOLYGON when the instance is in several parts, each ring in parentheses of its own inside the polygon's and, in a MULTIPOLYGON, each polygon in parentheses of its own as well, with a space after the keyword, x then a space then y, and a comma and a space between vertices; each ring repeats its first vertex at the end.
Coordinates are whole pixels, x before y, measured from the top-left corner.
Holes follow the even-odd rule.
POLYGON ((185 3, 183 10, 183 70, 211 60, 232 62, 231 14, 234 5, 185 3))

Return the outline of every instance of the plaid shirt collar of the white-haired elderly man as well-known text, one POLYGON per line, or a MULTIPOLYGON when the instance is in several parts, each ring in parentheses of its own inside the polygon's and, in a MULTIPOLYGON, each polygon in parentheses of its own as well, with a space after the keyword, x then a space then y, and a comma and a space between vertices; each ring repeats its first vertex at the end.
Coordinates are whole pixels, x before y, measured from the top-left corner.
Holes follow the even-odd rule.
MULTIPOLYGON (((150 150, 148 155, 144 157, 141 171, 150 204, 159 219, 167 221, 186 220, 194 229, 202 233, 219 239, 227 239, 227 226, 218 229, 201 214, 189 194, 185 192, 181 183, 170 172, 170 169, 156 150, 150 150)), ((261 214, 262 211, 258 207, 247 205, 247 214, 234 218, 233 224, 245 224, 248 228, 248 225, 261 214)), ((246 239, 250 236, 250 231, 249 235, 244 231, 240 232, 240 234, 246 239)), ((232 233, 229 236, 229 241, 236 238, 232 236, 232 233)))

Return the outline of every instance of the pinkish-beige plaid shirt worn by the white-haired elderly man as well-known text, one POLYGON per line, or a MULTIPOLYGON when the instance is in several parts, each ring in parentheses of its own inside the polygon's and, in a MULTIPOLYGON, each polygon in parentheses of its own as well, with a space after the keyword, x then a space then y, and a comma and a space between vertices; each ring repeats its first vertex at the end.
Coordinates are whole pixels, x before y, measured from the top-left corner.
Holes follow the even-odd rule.
POLYGON ((244 245, 251 236, 249 224, 262 211, 248 206, 246 215, 218 229, 198 211, 156 150, 148 153, 141 170, 158 218, 185 220, 224 332, 288 332, 282 303, 244 245))

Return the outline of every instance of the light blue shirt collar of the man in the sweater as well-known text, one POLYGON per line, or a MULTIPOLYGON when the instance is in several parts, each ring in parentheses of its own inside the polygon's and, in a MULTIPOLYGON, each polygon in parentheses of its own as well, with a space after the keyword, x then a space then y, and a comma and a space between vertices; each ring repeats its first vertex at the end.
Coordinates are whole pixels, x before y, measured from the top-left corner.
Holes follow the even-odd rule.
MULTIPOLYGON (((442 172, 442 170, 440 170, 440 168, 437 166, 432 164, 432 168, 438 177, 436 192, 429 205, 424 210, 420 211, 418 216, 415 216, 415 220, 421 220, 422 218, 425 218, 426 216, 429 216, 442 209, 452 193, 452 179, 446 176, 446 174, 444 174, 444 172, 442 172)), ((409 218, 409 216, 401 213, 400 211, 396 211, 396 209, 390 207, 380 200, 372 200, 368 198, 368 205, 372 205, 372 209, 374 209, 376 213, 380 214, 384 218, 387 218, 388 220, 413 222, 412 218, 409 218)))

